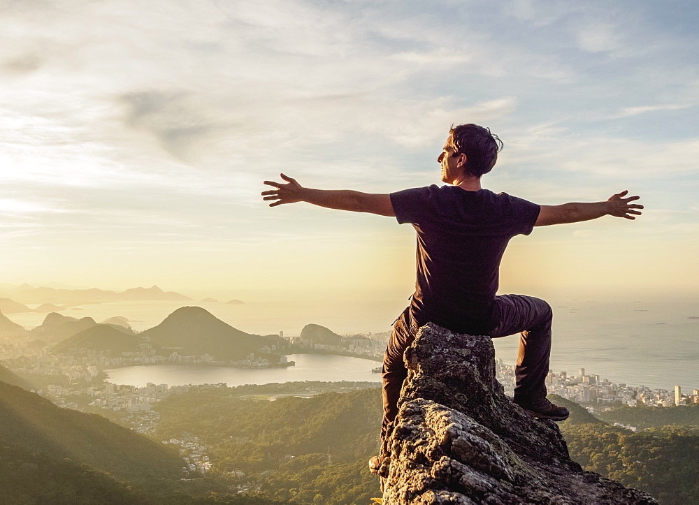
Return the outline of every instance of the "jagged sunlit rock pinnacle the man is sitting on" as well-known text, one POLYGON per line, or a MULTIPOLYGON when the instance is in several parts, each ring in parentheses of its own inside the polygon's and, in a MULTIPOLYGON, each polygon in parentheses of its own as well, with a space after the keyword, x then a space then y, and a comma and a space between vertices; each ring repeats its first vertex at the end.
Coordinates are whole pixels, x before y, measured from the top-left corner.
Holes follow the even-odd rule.
POLYGON ((551 420, 512 404, 489 337, 428 323, 406 351, 384 504, 656 504, 570 460, 551 420))

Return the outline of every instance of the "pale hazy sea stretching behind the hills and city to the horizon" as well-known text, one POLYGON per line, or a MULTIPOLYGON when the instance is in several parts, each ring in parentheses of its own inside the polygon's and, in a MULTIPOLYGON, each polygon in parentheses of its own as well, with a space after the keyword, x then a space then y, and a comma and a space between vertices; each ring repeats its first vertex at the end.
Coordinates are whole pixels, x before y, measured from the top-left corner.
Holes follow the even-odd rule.
MULTIPOLYGON (((552 369, 572 374, 584 367, 589 374, 635 386, 671 389, 679 383, 684 389, 699 388, 695 366, 699 359, 699 320, 689 319, 699 317, 696 298, 638 291, 619 295, 598 290, 533 294, 544 296, 554 309, 552 369)), ((283 331, 285 336, 294 337, 311 323, 340 335, 389 332, 391 323, 408 303, 407 297, 398 293, 366 300, 270 301, 264 296, 259 300, 237 296, 244 305, 226 304, 228 298, 223 297, 219 302, 203 302, 210 295, 201 293, 188 301, 88 303, 62 314, 90 316, 98 322, 126 316, 134 330, 143 331, 161 323, 175 309, 194 305, 244 332, 269 335, 283 331)), ((36 312, 5 315, 27 328, 41 324, 45 318, 45 314, 36 312)), ((518 342, 517 336, 496 339, 496 356, 505 363, 514 363, 518 342)))

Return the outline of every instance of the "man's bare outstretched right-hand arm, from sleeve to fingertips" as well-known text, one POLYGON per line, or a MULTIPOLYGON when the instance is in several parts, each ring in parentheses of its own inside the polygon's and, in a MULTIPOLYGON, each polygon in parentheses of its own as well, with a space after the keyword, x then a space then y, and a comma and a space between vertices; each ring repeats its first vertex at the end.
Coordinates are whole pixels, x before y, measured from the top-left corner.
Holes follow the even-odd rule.
POLYGON ((624 198, 628 191, 621 191, 610 196, 606 202, 595 203, 564 203, 563 205, 541 205, 539 217, 534 226, 547 226, 549 224, 578 223, 589 221, 609 214, 615 217, 636 219, 632 214, 639 215, 643 205, 631 203, 640 196, 624 198))

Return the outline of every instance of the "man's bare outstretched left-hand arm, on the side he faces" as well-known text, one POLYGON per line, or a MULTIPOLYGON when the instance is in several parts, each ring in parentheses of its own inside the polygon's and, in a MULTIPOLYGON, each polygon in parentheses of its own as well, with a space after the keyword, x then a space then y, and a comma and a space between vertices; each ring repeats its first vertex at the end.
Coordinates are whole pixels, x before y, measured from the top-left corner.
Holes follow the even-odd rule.
POLYGON ((264 184, 276 189, 263 191, 263 200, 274 200, 270 207, 282 203, 308 202, 329 209, 369 212, 380 216, 395 216, 391 197, 387 194, 361 193, 349 189, 310 189, 304 188, 296 180, 280 174, 283 182, 265 181, 264 184))

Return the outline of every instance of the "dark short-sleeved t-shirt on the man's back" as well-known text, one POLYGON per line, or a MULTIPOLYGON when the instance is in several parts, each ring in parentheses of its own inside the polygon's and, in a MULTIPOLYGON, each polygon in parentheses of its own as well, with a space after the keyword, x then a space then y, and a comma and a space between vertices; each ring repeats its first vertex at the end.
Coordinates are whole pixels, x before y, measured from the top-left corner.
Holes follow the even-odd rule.
POLYGON ((535 203, 487 189, 428 186, 391 193, 398 223, 417 231, 417 280, 411 312, 454 332, 485 335, 507 242, 529 235, 535 203))

